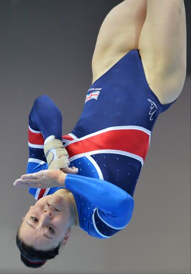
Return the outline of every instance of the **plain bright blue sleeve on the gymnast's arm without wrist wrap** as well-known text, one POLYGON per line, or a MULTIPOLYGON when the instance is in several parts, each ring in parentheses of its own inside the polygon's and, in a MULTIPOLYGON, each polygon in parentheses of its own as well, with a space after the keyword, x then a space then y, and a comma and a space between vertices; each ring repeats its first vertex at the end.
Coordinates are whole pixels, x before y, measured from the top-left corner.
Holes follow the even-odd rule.
POLYGON ((120 187, 97 178, 68 174, 65 185, 68 190, 81 195, 98 208, 107 224, 121 228, 131 219, 134 200, 120 187))

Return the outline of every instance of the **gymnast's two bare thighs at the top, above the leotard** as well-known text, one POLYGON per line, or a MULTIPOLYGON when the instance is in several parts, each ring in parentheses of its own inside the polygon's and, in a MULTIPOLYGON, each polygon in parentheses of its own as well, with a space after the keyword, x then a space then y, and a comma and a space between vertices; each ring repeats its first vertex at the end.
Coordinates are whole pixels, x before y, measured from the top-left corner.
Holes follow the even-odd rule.
POLYGON ((155 8, 152 9, 156 14, 158 8, 164 9, 159 14, 161 21, 164 21, 163 17, 167 16, 165 12, 170 13, 170 10, 174 8, 174 13, 168 13, 170 18, 162 24, 156 19, 153 21, 155 14, 149 10, 151 4, 152 2, 147 2, 147 0, 124 0, 107 14, 99 29, 95 44, 92 59, 93 83, 127 52, 139 49, 147 82, 161 104, 165 105, 177 99, 185 81, 184 6, 181 7, 182 14, 180 15, 176 12, 179 6, 165 6, 162 0, 161 6, 156 6, 156 11, 155 8), (169 29, 167 27, 172 19, 177 24, 176 31, 172 27, 169 29), (157 34, 154 30, 152 33, 151 25, 153 24, 156 25, 154 30, 157 34), (168 37, 166 41, 164 37, 161 37, 161 33, 164 37, 168 37), (149 41, 152 40, 152 35, 154 42, 151 47, 149 41), (172 53, 172 43, 176 39, 182 39, 182 42, 177 45, 176 56, 171 54, 172 57, 169 59, 169 53, 172 53), (160 45, 157 44, 157 40, 159 42, 162 40, 160 45), (162 51, 159 52, 159 48, 162 48, 162 51))

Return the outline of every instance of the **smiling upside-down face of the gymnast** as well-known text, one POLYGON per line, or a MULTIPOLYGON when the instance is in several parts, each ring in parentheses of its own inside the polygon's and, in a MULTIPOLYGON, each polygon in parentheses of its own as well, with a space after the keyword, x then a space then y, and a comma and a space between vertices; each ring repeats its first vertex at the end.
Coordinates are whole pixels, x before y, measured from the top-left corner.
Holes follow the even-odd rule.
POLYGON ((36 250, 50 250, 60 242, 65 245, 70 238, 70 208, 60 194, 54 193, 39 199, 22 220, 19 237, 36 250))

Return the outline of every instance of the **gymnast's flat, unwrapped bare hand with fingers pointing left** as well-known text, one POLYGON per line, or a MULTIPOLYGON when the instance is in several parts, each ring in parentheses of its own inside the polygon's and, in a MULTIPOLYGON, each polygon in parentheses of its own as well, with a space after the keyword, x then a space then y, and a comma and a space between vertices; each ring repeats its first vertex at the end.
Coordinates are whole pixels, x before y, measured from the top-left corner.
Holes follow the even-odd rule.
POLYGON ((65 187, 66 176, 67 174, 59 169, 41 170, 22 175, 19 179, 15 180, 13 185, 32 188, 65 187))

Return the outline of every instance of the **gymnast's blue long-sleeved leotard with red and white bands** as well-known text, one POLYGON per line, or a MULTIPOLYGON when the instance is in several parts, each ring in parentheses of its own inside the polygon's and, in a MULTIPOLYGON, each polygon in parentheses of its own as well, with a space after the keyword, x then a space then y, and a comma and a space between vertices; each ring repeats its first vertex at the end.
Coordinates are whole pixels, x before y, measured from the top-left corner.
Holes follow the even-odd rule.
MULTIPOLYGON (((146 81, 139 51, 131 50, 90 87, 71 133, 61 135, 62 116, 48 96, 35 101, 29 116, 27 173, 47 169, 46 137, 62 139, 70 167, 79 168, 65 183, 76 199, 80 227, 93 237, 109 238, 130 221, 131 197, 154 124, 174 102, 160 103, 146 81)), ((58 189, 29 192, 38 200, 58 189)))

